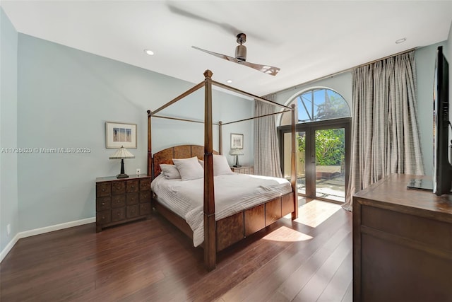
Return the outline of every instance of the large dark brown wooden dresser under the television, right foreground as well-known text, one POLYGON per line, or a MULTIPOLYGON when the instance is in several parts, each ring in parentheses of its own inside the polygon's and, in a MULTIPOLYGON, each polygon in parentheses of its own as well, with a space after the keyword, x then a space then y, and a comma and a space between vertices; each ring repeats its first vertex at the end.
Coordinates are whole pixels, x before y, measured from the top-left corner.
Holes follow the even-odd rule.
POLYGON ((393 174, 353 197, 353 301, 452 301, 452 195, 393 174))

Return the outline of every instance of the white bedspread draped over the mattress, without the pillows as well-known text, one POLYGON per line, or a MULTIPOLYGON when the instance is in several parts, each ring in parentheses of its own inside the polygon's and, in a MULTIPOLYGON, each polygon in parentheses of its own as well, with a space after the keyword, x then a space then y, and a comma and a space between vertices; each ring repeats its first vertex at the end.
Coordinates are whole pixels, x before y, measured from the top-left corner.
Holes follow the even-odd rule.
MULTIPOLYGON (((203 223, 204 179, 166 179, 160 174, 150 187, 157 200, 183 217, 193 230, 193 243, 204 240, 203 223)), ((220 220, 266 200, 292 192, 284 178, 233 173, 214 177, 215 219, 220 220)))

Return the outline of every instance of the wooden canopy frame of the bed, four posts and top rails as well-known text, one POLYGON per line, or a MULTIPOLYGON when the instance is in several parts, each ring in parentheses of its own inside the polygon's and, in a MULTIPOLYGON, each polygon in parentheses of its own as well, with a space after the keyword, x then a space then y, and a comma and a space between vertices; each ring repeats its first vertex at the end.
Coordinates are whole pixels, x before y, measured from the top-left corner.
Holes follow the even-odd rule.
MULTIPOLYGON (((170 100, 165 105, 162 105, 160 108, 157 108, 154 111, 148 110, 148 175, 152 175, 153 178, 155 178, 157 175, 156 173, 160 172, 160 167, 156 167, 154 163, 153 158, 153 150, 152 150, 152 123, 151 118, 157 117, 157 118, 163 118, 163 119, 169 119, 169 120, 179 120, 184 122, 197 122, 197 123, 203 123, 204 124, 204 146, 203 146, 203 160, 204 160, 204 194, 203 194, 203 216, 204 216, 204 242, 203 242, 203 249, 204 249, 204 265, 206 269, 209 271, 212 269, 215 269, 216 266, 216 253, 218 251, 216 242, 216 226, 215 226, 215 194, 214 194, 214 182, 213 182, 213 154, 218 153, 213 150, 213 125, 219 126, 219 153, 222 154, 222 126, 226 124, 233 124, 236 122, 244 122, 247 120, 254 120, 260 117, 267 117, 271 115, 278 115, 283 112, 292 112, 292 153, 291 153, 291 186, 292 186, 292 193, 290 193, 290 197, 293 197, 293 204, 294 208, 292 211, 292 220, 296 219, 298 216, 298 197, 297 197, 297 175, 296 175, 296 150, 295 150, 295 105, 291 105, 291 107, 287 107, 285 105, 281 105, 279 103, 275 103, 271 100, 266 100, 264 98, 258 97, 256 95, 253 95, 251 93, 247 93, 245 91, 241 91, 237 88, 233 88, 232 86, 227 86, 225 84, 219 83, 217 81, 212 80, 212 71, 206 70, 204 71, 204 81, 201 83, 198 83, 196 86, 190 88, 188 91, 182 93, 181 95, 177 96, 176 98, 170 100), (260 115, 256 117, 249 117, 243 120, 236 120, 231 122, 217 122, 214 123, 212 120, 212 86, 218 86, 220 88, 224 88, 227 91, 232 91, 234 93, 238 93, 239 95, 245 95, 247 97, 254 98, 255 100, 261 100, 264 103, 268 103, 270 105, 277 106, 279 108, 283 108, 282 111, 270 113, 267 115, 260 115), (165 108, 169 107, 170 105, 177 103, 177 101, 182 100, 187 95, 190 95, 191 93, 194 93, 195 91, 198 91, 198 89, 204 88, 204 121, 199 120, 189 120, 189 119, 183 119, 179 117, 167 117, 167 116, 161 116, 157 115, 158 112, 161 112, 165 108)), ((189 146, 189 148, 194 149, 196 147, 202 148, 201 146, 189 146)), ((200 150, 198 150, 200 151, 200 150)), ((174 153, 174 148, 173 148, 174 153)), ((190 151, 188 156, 194 156, 193 153, 190 151)), ((292 202, 292 200, 290 201, 292 202)), ((174 223, 174 221, 172 221, 174 223)), ((176 221, 176 225, 178 222, 176 221)), ((179 223, 180 224, 180 223, 179 223)), ((179 226, 178 226, 179 227, 179 226)), ((180 227, 179 227, 180 228, 180 227)), ((181 228, 182 231, 184 231, 184 228, 181 228)), ((187 233, 186 231, 184 233, 187 233)), ((189 234, 187 234, 189 235, 189 234)))

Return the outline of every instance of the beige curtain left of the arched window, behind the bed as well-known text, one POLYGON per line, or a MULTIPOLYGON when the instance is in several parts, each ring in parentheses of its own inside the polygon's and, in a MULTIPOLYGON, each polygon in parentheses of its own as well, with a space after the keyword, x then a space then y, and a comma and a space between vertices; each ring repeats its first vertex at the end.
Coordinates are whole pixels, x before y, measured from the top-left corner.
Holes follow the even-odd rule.
MULTIPOLYGON (((266 95, 263 98, 275 101, 275 95, 266 95)), ((254 112, 256 117, 270 114, 275 112, 275 106, 255 100, 254 112)), ((254 173, 282 178, 275 115, 260 117, 254 121, 254 173)))

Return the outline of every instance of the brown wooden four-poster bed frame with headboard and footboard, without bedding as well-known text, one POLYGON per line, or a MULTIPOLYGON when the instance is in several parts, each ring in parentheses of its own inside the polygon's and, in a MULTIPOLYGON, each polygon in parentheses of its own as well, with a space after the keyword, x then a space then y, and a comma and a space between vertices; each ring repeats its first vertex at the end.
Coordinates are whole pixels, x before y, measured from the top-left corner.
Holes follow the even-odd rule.
MULTIPOLYGON (((295 174, 295 109, 289 108, 285 105, 272 102, 260 98, 251 93, 240 91, 236 88, 226 86, 222 83, 218 83, 211 79, 212 72, 207 70, 204 72, 205 80, 198 83, 193 88, 189 89, 182 95, 177 96, 169 103, 162 105, 157 110, 151 112, 148 110, 148 175, 151 175, 153 180, 161 173, 162 164, 172 164, 173 158, 194 158, 197 157, 203 161, 203 243, 204 249, 204 265, 206 269, 215 269, 216 265, 216 253, 228 246, 236 243, 242 238, 256 233, 256 231, 265 228, 270 223, 280 219, 280 217, 287 214, 292 214, 292 219, 298 216, 298 199, 297 199, 297 185, 295 174), (291 156, 291 180, 289 186, 289 192, 276 193, 270 199, 263 200, 257 205, 250 208, 243 209, 230 216, 215 219, 215 193, 214 193, 214 155, 222 154, 222 126, 225 124, 232 124, 234 122, 243 122, 246 120, 253 120, 259 117, 269 116, 262 115, 259 117, 250 117, 245 120, 237 120, 233 122, 218 122, 219 126, 219 152, 213 150, 213 120, 212 120, 212 85, 225 88, 228 91, 233 91, 241 95, 261 100, 265 103, 284 108, 283 112, 292 112, 292 156, 291 156), (152 150, 152 117, 167 118, 172 120, 180 120, 185 122, 199 122, 194 120, 186 120, 176 117, 164 117, 158 116, 157 113, 167 108, 169 105, 176 103, 178 100, 185 98, 187 95, 194 93, 200 88, 205 88, 205 101, 204 101, 204 146, 196 145, 182 145, 174 146, 168 149, 164 149, 153 154, 152 150)), ((279 114, 281 112, 276 112, 279 114)), ((274 115, 274 114, 270 114, 274 115)), ((216 159, 215 159, 216 161, 216 159)), ((215 162, 216 164, 216 162, 215 162)), ((215 181, 217 182, 217 181, 215 181)), ((194 231, 191 229, 187 221, 180 216, 180 214, 174 213, 169 207, 160 202, 157 196, 153 196, 153 207, 167 220, 172 222, 174 226, 177 226, 190 238, 194 238, 194 231)))

